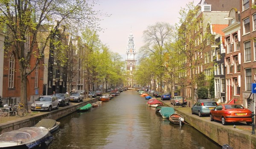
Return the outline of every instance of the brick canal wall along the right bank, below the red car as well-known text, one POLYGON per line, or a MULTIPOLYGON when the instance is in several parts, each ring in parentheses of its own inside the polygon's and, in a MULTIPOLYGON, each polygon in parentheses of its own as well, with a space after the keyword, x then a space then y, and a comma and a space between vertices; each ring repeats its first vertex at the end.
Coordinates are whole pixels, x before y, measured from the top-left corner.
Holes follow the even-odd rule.
POLYGON ((221 146, 228 144, 233 149, 256 149, 256 135, 251 135, 250 131, 233 128, 233 125, 224 126, 221 123, 209 123, 208 117, 208 120, 206 120, 204 117, 191 115, 190 112, 183 111, 182 108, 175 110, 183 115, 186 123, 221 146))

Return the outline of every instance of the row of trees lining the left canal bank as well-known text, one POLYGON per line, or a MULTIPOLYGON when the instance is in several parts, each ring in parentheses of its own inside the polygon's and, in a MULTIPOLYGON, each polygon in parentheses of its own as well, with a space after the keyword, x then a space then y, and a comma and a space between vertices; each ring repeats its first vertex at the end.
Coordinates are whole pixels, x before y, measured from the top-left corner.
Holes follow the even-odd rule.
POLYGON ((66 59, 62 57, 60 60, 63 65, 70 66, 69 80, 74 77, 71 74, 74 70, 73 61, 70 58, 74 52, 72 50, 77 49, 70 49, 67 43, 51 40, 53 34, 57 34, 57 30, 50 27, 56 20, 58 24, 65 26, 71 36, 80 35, 81 42, 87 44, 89 52, 86 58, 80 57, 81 64, 88 69, 94 81, 116 83, 121 80, 120 74, 123 72, 120 70, 123 62, 120 55, 110 52, 96 34, 97 31, 102 30, 99 28, 98 16, 109 15, 94 11, 95 5, 97 5, 95 0, 0 0, 0 27, 6 33, 5 52, 15 52, 18 60, 19 70, 16 71, 20 73, 21 80, 20 102, 24 103, 26 109, 28 109, 27 77, 42 61, 45 50, 51 48, 49 43, 55 45, 55 49, 50 50, 62 51, 62 54, 69 55, 66 59), (45 31, 49 33, 44 34, 44 37, 39 36, 39 32, 45 31), (36 64, 31 68, 32 57, 36 57, 36 64))

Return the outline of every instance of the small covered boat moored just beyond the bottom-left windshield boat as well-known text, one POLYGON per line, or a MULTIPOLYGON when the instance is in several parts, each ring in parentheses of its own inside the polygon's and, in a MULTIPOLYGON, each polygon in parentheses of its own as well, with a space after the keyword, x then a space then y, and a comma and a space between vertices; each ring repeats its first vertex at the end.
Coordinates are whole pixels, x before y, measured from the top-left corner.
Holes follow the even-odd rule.
POLYGON ((53 119, 42 119, 38 123, 35 124, 33 127, 44 127, 49 130, 49 132, 54 132, 60 126, 61 122, 57 122, 53 119))

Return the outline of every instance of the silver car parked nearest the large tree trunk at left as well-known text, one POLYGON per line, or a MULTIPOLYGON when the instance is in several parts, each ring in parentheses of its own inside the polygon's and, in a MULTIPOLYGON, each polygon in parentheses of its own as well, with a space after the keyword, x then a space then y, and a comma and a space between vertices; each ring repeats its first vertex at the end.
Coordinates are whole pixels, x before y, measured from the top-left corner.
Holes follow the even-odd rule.
POLYGON ((59 102, 58 98, 53 95, 44 95, 35 100, 34 103, 31 104, 31 111, 52 111, 52 109, 58 109, 59 102))

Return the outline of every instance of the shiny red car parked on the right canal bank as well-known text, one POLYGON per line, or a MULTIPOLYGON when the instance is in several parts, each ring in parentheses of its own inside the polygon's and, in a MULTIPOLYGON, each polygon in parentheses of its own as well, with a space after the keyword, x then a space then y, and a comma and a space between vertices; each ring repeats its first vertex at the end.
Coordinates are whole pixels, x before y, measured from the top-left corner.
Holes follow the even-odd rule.
POLYGON ((223 125, 229 122, 246 122, 250 125, 252 112, 239 104, 222 104, 210 111, 210 120, 219 120, 223 125))

